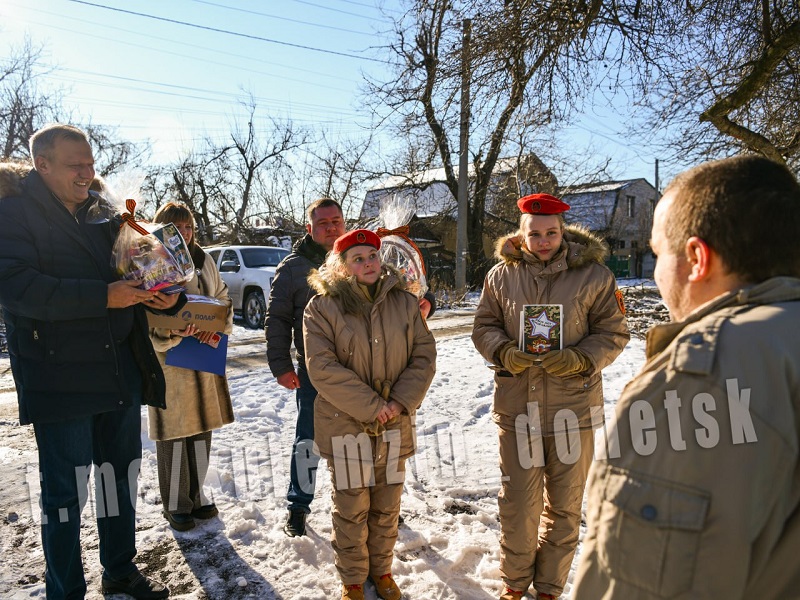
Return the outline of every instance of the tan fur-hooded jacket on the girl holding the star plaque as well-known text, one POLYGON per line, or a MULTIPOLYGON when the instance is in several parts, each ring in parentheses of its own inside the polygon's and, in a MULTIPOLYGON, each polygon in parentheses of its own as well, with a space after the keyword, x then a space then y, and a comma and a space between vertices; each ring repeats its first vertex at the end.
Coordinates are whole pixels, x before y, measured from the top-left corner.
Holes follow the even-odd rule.
MULTIPOLYGON (((601 369, 622 352, 630 339, 617 284, 603 264, 608 250, 598 237, 577 226, 567 226, 561 251, 544 264, 511 249, 513 237, 497 244, 502 260, 486 276, 475 313, 472 341, 483 357, 499 364, 497 353, 509 341, 519 345, 520 311, 524 304, 563 304, 563 344, 574 346, 591 359, 591 368, 571 377, 549 375, 534 366, 519 375, 495 374, 493 410, 501 419, 539 405, 542 433, 553 433, 553 419, 561 409, 577 417, 580 428, 592 426, 591 407, 603 404, 601 369)), ((518 245, 518 242, 517 242, 518 245)), ((621 298, 621 296, 620 296, 621 298)))

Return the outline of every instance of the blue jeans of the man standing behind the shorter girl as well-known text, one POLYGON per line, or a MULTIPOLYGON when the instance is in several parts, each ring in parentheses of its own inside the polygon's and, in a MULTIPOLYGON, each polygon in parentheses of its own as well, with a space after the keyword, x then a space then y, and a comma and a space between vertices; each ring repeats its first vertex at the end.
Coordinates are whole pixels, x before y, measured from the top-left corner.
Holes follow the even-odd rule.
POLYGON ((300 379, 300 387, 295 392, 297 425, 292 445, 291 480, 286 499, 289 501, 289 510, 311 512, 319 464, 319 454, 314 451, 314 399, 317 397, 317 390, 311 385, 304 366, 298 365, 297 377, 300 379))

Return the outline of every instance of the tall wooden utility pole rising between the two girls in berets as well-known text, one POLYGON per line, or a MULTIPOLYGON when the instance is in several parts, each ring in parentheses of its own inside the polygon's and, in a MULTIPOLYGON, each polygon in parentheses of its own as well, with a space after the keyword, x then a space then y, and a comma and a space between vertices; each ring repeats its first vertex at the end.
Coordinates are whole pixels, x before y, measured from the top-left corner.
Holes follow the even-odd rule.
POLYGON ((464 19, 461 37, 461 133, 458 160, 458 222, 456 224, 456 289, 467 289, 467 211, 469 210, 469 79, 472 20, 464 19))

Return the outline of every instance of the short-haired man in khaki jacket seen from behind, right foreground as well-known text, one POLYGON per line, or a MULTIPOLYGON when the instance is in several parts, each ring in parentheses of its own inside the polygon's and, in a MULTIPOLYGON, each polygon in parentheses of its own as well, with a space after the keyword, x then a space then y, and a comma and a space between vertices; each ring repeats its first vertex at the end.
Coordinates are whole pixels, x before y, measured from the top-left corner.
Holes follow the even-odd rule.
POLYGON ((800 185, 740 156, 656 207, 672 323, 617 403, 574 598, 800 597, 800 185))

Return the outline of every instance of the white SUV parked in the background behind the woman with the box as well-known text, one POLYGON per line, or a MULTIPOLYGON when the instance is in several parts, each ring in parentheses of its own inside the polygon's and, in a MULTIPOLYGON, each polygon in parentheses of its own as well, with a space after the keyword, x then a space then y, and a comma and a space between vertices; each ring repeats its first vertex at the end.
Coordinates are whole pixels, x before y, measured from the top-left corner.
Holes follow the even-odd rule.
POLYGON ((216 246, 206 252, 228 284, 233 310, 251 329, 264 326, 269 290, 278 266, 289 251, 277 246, 216 246))

